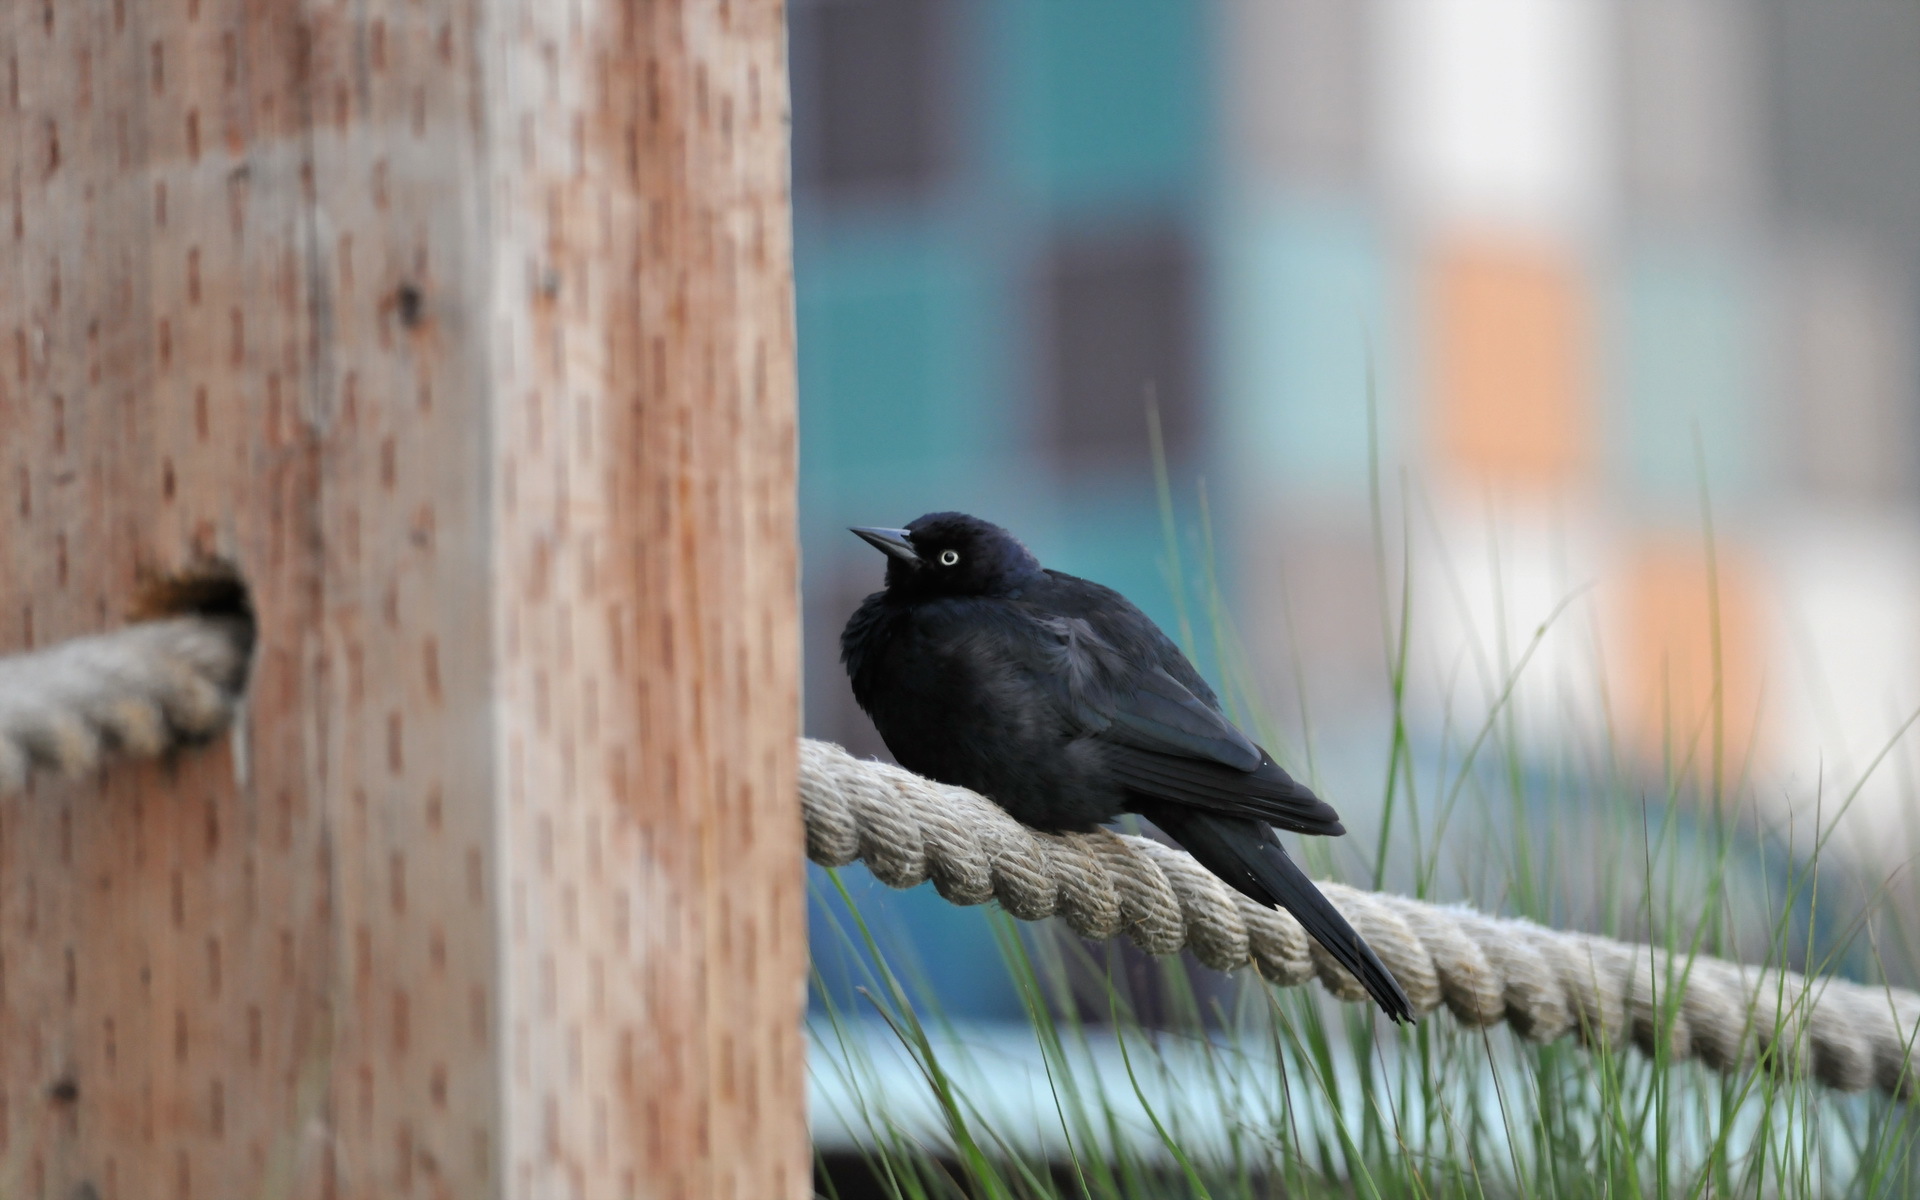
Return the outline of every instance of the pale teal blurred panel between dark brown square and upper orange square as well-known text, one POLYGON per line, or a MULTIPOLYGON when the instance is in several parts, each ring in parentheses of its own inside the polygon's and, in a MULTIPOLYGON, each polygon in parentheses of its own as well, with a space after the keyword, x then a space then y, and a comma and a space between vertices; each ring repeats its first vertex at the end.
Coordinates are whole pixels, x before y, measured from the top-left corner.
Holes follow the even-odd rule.
POLYGON ((1405 323, 1363 211, 1273 205, 1223 227, 1215 250, 1219 442, 1252 497, 1365 495, 1373 449, 1392 472, 1411 444, 1405 323))

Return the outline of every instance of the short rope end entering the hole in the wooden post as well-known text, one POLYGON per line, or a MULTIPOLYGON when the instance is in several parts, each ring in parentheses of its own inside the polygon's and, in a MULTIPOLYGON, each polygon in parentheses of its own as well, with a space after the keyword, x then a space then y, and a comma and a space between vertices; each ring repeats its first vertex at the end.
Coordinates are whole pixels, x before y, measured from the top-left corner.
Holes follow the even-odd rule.
POLYGON ((35 768, 71 778, 109 753, 213 737, 234 716, 248 641, 244 618, 179 616, 0 657, 0 795, 35 768))

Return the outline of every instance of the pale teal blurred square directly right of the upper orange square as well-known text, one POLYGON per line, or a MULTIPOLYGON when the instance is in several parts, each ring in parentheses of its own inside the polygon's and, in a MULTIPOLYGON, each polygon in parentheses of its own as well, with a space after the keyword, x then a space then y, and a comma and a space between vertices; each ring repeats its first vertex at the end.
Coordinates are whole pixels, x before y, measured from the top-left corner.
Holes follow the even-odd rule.
POLYGON ((1615 463, 1655 503, 1699 499, 1701 465, 1716 499, 1761 480, 1766 422, 1751 361, 1751 280, 1730 263, 1640 253, 1615 301, 1615 463))

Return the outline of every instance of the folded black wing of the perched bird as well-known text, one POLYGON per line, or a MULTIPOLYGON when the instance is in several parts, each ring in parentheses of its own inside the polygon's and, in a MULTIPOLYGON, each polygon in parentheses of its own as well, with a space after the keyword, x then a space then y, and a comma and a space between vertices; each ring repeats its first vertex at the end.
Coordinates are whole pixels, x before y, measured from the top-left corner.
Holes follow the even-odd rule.
POLYGON ((1346 831, 1331 804, 1164 666, 1139 664, 1077 616, 1043 618, 1041 628, 1050 637, 1039 678, 1129 793, 1296 833, 1346 831))

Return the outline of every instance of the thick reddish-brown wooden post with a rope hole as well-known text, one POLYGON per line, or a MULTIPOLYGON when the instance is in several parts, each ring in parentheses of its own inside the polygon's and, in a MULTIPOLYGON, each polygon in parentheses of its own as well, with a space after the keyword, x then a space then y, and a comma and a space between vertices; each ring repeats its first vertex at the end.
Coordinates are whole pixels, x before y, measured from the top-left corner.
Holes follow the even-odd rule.
POLYGON ((808 1192, 785 96, 778 0, 0 13, 0 653, 261 630, 0 804, 0 1194, 808 1192))

